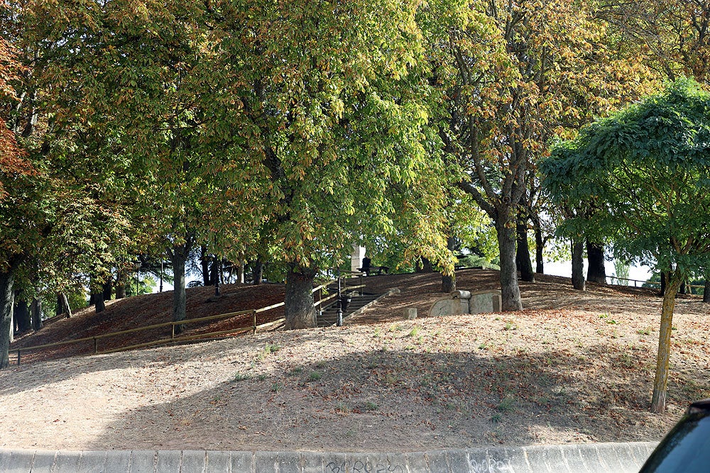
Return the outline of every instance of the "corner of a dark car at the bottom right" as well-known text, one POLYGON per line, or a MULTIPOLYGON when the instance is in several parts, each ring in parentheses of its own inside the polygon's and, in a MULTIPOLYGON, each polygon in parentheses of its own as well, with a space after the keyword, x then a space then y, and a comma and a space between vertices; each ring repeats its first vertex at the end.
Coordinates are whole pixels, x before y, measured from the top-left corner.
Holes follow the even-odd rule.
POLYGON ((694 402, 639 473, 710 472, 710 399, 694 402))

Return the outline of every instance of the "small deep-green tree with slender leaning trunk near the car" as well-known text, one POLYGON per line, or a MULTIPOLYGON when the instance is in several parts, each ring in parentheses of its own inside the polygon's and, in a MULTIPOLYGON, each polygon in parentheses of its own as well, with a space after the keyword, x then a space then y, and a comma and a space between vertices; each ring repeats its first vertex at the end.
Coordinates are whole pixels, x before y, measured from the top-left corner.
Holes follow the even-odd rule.
POLYGON ((567 223, 613 238, 615 252, 653 258, 667 279, 660 316, 651 411, 665 410, 675 295, 687 274, 710 261, 710 94, 675 82, 561 143, 543 162, 547 186, 586 220, 567 223))

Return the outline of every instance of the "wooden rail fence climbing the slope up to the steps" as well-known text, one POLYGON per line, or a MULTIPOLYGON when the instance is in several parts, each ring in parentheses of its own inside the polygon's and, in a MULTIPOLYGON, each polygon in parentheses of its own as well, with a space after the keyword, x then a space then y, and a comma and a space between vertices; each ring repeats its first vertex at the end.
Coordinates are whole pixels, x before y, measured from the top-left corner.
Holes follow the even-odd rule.
MULTIPOLYGON (((354 273, 355 274, 355 273, 354 273)), ((346 290, 353 290, 353 289, 361 289, 364 287, 364 284, 358 284, 356 286, 347 286, 347 279, 342 279, 344 281, 344 286, 346 290)), ((337 294, 332 294, 330 296, 327 296, 325 298, 322 298, 322 293, 327 286, 330 284, 333 284, 334 282, 337 282, 337 279, 332 279, 329 282, 326 282, 325 284, 321 284, 320 286, 317 286, 315 289, 312 290, 312 294, 315 294, 316 292, 319 294, 319 300, 315 302, 314 306, 318 308, 319 310, 322 310, 323 304, 325 304, 327 301, 330 301, 334 298, 337 297, 337 294)), ((360 279, 360 283, 362 283, 362 279, 360 279)), ((256 325, 256 314, 261 313, 261 312, 266 312, 266 311, 271 311, 274 308, 278 308, 281 306, 284 306, 284 302, 280 302, 278 304, 273 304, 272 306, 267 306, 267 307, 261 307, 261 308, 256 308, 256 309, 251 309, 247 311, 237 311, 237 312, 229 312, 229 313, 221 313, 216 316, 207 316, 207 317, 200 317, 200 318, 188 318, 185 319, 184 321, 171 321, 171 322, 164 322, 164 323, 155 323, 153 325, 145 325, 143 327, 136 327, 136 328, 130 328, 129 330, 121 330, 119 332, 109 332, 109 333, 102 333, 101 335, 94 335, 92 337, 84 337, 84 338, 75 338, 74 340, 65 340, 63 342, 55 342, 55 343, 45 343, 44 345, 33 345, 31 347, 23 347, 23 348, 16 348, 13 350, 10 350, 12 353, 17 354, 17 364, 20 364, 22 353, 24 352, 30 352, 33 350, 42 350, 46 348, 53 348, 53 347, 60 347, 64 345, 72 345, 75 343, 87 343, 91 342, 94 345, 94 353, 95 354, 103 354, 103 353, 114 353, 114 352, 121 352, 125 350, 133 350, 136 348, 143 348, 143 347, 150 347, 150 346, 155 346, 155 345, 165 345, 168 343, 179 343, 179 342, 186 342, 186 341, 192 341, 192 340, 202 340, 206 338, 215 338, 218 337, 219 335, 240 335, 242 333, 256 333, 258 330, 269 330, 269 329, 278 329, 285 325, 286 319, 285 318, 279 318, 278 320, 267 322, 267 323, 262 323, 261 325, 256 325), (244 326, 241 328, 231 328, 229 330, 219 330, 217 332, 209 332, 209 333, 199 333, 196 335, 183 335, 183 336, 175 336, 175 326, 177 325, 188 325, 190 323, 199 323, 199 322, 207 322, 207 321, 217 321, 217 320, 222 320, 225 318, 232 318, 236 316, 245 316, 247 314, 251 314, 251 325, 244 326), (126 335, 126 333, 136 333, 136 332, 143 332, 146 330, 153 330, 155 328, 165 328, 165 327, 170 327, 170 338, 161 338, 160 340, 153 340, 151 342, 146 342, 146 343, 138 343, 136 345, 127 345, 124 347, 118 347, 118 348, 113 348, 111 350, 103 350, 99 351, 99 341, 104 340, 106 338, 111 338, 111 337, 116 337, 119 335, 126 335)))

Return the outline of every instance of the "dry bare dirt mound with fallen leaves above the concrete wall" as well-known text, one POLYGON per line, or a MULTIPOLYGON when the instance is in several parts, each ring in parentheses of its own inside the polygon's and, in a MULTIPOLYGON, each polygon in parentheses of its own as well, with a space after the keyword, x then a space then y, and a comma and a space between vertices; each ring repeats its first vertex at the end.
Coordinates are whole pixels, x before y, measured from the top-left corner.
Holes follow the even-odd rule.
MULTIPOLYGON (((496 288, 497 276, 459 272, 459 289, 496 288)), ((652 291, 590 284, 579 293, 569 279, 539 276, 521 284, 523 311, 422 317, 443 296, 438 278, 366 278, 368 290, 402 292, 342 328, 12 367, 0 372, 0 447, 410 451, 657 440, 689 401, 710 396, 710 308, 697 298, 677 300, 668 408, 657 416, 648 413, 660 318, 652 291), (420 318, 401 320, 407 307, 420 318)))

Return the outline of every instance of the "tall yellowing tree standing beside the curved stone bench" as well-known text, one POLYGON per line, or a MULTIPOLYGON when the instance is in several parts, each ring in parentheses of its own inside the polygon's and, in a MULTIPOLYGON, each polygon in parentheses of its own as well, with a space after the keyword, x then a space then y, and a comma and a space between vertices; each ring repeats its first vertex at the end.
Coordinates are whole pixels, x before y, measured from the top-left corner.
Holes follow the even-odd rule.
POLYGON ((522 308, 515 221, 526 173, 555 133, 572 133, 643 82, 638 62, 584 2, 439 1, 422 9, 447 113, 440 135, 459 187, 498 230, 503 309, 522 308))

